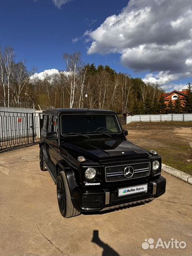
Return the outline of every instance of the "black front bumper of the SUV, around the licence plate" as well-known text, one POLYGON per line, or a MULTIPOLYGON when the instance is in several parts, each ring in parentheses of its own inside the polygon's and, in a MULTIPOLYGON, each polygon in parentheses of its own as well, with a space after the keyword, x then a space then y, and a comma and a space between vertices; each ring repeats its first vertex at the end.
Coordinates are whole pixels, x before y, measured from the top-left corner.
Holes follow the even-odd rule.
MULTIPOLYGON (((103 211, 141 202, 149 202, 165 193, 166 179, 164 177, 160 176, 147 184, 147 192, 130 194, 122 197, 118 197, 118 188, 120 188, 118 185, 115 188, 109 187, 107 189, 98 189, 94 191, 88 189, 82 191, 79 188, 76 188, 73 191, 73 206, 79 211, 103 211)), ((129 186, 131 186, 130 183, 127 187, 129 186)), ((123 187, 126 187, 126 185, 123 187)))

